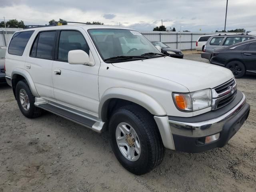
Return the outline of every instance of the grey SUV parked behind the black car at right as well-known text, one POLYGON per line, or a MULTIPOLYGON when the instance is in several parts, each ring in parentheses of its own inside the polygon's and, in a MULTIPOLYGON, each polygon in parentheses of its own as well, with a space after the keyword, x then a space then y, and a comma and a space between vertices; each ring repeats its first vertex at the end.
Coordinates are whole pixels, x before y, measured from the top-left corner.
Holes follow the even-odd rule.
POLYGON ((204 46, 204 52, 201 57, 210 61, 212 52, 216 49, 228 47, 236 43, 244 42, 250 39, 255 39, 256 36, 240 34, 240 35, 226 35, 219 34, 218 36, 211 36, 204 46))

